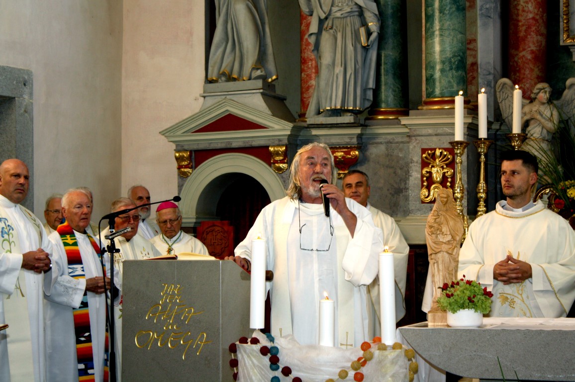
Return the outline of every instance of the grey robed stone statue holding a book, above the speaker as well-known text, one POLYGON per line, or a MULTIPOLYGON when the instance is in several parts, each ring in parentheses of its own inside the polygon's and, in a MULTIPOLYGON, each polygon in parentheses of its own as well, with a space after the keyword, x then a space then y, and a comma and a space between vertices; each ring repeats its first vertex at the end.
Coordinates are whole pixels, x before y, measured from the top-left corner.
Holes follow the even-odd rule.
POLYGON ((373 101, 379 16, 374 0, 299 0, 318 75, 306 117, 361 113, 373 101))

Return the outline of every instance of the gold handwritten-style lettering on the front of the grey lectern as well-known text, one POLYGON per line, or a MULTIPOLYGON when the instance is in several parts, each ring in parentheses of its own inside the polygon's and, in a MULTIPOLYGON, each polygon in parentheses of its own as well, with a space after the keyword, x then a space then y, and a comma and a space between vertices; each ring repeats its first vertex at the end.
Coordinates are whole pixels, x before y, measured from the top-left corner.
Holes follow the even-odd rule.
POLYGON ((155 344, 158 347, 168 346, 169 349, 182 346, 182 360, 185 360, 187 350, 193 343, 193 349, 197 349, 196 354, 199 356, 204 345, 212 341, 206 341, 208 335, 205 332, 202 331, 196 337, 182 326, 190 324, 193 316, 204 312, 196 312, 193 307, 184 303, 181 285, 162 284, 162 287, 159 303, 152 305, 145 319, 162 324, 163 330, 140 330, 136 333, 136 346, 148 350, 155 344))

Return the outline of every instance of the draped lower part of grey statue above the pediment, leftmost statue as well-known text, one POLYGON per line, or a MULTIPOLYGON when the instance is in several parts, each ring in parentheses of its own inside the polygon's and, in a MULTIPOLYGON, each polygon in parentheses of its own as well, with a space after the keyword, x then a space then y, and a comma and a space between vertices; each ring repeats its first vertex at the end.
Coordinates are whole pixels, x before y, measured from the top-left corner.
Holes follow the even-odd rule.
POLYGON ((209 82, 278 78, 266 0, 215 0, 209 82))

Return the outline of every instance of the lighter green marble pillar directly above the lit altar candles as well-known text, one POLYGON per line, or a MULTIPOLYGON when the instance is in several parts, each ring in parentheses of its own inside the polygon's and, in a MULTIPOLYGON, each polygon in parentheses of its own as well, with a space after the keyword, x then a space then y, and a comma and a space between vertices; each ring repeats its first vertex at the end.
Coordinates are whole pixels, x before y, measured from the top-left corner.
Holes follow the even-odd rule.
POLYGON ((425 97, 467 96, 465 0, 425 0, 425 97))

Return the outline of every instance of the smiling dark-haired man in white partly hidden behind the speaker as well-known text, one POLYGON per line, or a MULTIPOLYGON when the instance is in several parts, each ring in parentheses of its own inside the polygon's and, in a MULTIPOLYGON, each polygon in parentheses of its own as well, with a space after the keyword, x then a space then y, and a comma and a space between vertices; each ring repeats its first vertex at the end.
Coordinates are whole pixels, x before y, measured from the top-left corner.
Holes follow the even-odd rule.
MULTIPOLYGON (((409 246, 393 217, 373 207, 367 199, 371 195, 369 177, 360 170, 350 170, 342 178, 342 189, 346 198, 351 198, 371 212, 375 227, 384 235, 384 245, 393 253, 396 284, 396 322, 405 315, 405 283, 407 282, 407 259, 409 246)), ((370 319, 369 337, 381 335, 381 305, 379 303, 379 278, 376 277, 367 287, 367 314, 370 319)))

